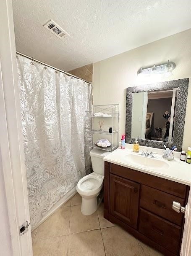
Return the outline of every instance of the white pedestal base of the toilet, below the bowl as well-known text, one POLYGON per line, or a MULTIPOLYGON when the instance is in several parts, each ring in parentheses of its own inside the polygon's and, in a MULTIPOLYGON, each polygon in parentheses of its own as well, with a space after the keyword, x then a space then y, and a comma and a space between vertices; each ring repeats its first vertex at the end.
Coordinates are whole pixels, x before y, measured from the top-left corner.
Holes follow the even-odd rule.
POLYGON ((82 197, 81 213, 84 215, 91 215, 97 210, 97 197, 90 199, 82 197))

